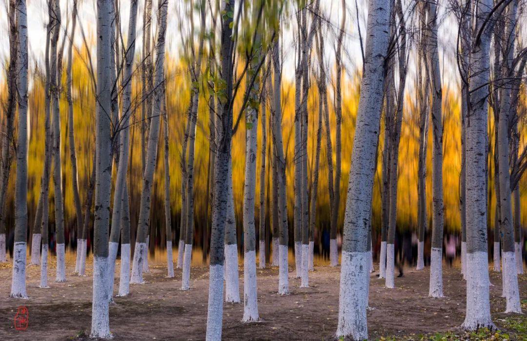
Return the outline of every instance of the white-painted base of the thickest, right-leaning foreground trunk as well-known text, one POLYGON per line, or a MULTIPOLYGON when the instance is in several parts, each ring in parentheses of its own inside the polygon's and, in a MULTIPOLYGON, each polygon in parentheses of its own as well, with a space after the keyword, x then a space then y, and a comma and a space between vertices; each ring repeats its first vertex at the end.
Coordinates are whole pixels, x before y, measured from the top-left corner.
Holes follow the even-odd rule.
POLYGON ((369 251, 342 252, 340 300, 337 338, 368 338, 366 306, 368 305, 369 251))

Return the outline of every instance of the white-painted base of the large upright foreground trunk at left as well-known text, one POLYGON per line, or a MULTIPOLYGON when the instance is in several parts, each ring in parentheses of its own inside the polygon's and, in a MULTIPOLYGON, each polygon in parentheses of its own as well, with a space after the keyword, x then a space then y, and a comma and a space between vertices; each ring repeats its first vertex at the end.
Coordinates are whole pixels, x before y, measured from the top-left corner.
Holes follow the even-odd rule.
POLYGON ((110 338, 110 319, 108 312, 108 257, 93 257, 93 301, 92 301, 92 332, 91 338, 110 338))

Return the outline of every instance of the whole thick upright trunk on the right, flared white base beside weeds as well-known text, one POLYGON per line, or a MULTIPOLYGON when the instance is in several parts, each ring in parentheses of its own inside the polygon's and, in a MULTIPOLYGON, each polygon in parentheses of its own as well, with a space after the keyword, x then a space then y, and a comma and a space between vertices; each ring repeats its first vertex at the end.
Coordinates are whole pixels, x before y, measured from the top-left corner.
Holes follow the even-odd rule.
POLYGON ((487 260, 486 174, 489 51, 492 25, 484 22, 490 0, 477 2, 469 63, 470 102, 466 118, 466 315, 464 329, 494 328, 490 314, 487 260))

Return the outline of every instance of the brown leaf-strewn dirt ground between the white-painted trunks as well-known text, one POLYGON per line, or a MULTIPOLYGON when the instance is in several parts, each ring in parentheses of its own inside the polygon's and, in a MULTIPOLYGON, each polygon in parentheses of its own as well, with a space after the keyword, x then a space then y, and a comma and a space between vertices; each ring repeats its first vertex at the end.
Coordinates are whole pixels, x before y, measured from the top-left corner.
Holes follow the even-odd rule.
MULTIPOLYGON (((174 253, 174 256, 177 254, 174 253)), ((195 255, 198 256, 198 255, 195 255)), ((115 340, 181 339, 205 337, 208 300, 208 268, 193 266, 191 290, 181 291, 181 270, 167 278, 163 257, 151 260, 146 284, 131 285, 129 297, 115 297, 110 306, 110 329, 115 340)), ((176 259, 176 258, 174 258, 176 259)), ((11 264, 0 265, 0 340, 86 339, 91 325, 91 257, 86 277, 72 274, 74 255, 67 260, 67 282, 53 282, 55 258, 50 257, 49 285, 38 288, 40 267, 27 269, 28 300, 9 297, 11 264), (13 319, 18 306, 28 309, 26 330, 16 330, 13 319)), ((290 257, 292 260, 292 257, 290 257)), ((118 260, 119 262, 119 260, 118 260)), ((241 262, 241 257, 240 257, 241 262)), ((242 262, 241 262, 242 264, 242 262)), ((119 265, 116 265, 119 269, 119 265)), ((300 279, 290 265, 290 295, 278 296, 278 268, 258 269, 258 310, 261 321, 241 323, 243 304, 225 304, 224 339, 334 339, 337 329, 339 267, 315 266, 309 273, 309 288, 300 288, 300 279)), ((376 266, 377 269, 377 266, 376 266)), ((459 326, 465 315, 465 282, 458 266, 443 265, 445 298, 428 297, 428 267, 423 271, 406 269, 395 278, 395 289, 384 287, 384 279, 371 275, 368 330, 370 339, 527 339, 525 314, 504 314, 501 276, 490 271, 491 310, 500 335, 462 336, 459 326), (442 333, 442 334, 436 334, 442 333), (423 336, 424 335, 424 336, 423 336), (460 336, 461 335, 461 336, 460 336)), ((396 272, 397 274, 397 272, 396 272)), ((520 276, 520 295, 527 310, 527 275, 520 276)), ((119 276, 115 278, 115 292, 119 276)), ((240 265, 240 297, 243 298, 243 269, 240 265)))

